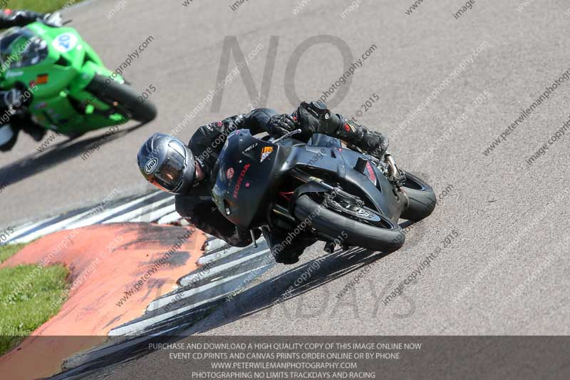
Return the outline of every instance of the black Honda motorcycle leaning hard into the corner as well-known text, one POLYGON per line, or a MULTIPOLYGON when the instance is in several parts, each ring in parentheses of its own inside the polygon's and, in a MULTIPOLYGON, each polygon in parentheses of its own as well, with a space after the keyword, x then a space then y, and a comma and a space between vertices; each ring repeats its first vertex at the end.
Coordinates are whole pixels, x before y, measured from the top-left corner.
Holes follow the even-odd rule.
POLYGON ((266 140, 236 130, 219 154, 212 198, 252 235, 279 228, 323 240, 329 252, 335 243, 393 252, 405 241, 399 218, 434 210, 430 185, 399 170, 390 154, 378 160, 336 138, 316 134, 302 143, 296 133, 266 140))

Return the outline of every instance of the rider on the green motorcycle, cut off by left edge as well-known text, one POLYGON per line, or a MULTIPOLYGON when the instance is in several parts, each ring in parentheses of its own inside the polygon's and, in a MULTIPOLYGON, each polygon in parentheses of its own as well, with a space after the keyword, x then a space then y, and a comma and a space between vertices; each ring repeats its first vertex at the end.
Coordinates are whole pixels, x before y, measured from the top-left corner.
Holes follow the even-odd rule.
MULTIPOLYGON (((36 58, 37 44, 33 43, 31 32, 20 29, 33 22, 40 21, 53 27, 62 26, 61 14, 40 14, 34 11, 0 11, 0 29, 19 27, 7 31, 0 37, 0 76, 14 63, 33 61, 36 58), (30 41, 31 43, 26 43, 30 41)), ((31 135, 33 140, 41 141, 46 129, 33 123, 25 113, 16 113, 16 109, 25 108, 33 100, 30 83, 17 82, 14 88, 0 88, 0 151, 6 152, 16 143, 20 130, 31 135)))

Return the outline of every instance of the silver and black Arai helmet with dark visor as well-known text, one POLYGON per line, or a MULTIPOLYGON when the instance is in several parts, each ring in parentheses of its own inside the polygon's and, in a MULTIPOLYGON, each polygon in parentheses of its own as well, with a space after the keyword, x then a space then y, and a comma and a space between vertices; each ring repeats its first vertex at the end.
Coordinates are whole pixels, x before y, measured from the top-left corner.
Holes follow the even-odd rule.
POLYGON ((137 162, 140 173, 160 190, 185 194, 192 188, 194 155, 175 137, 163 133, 150 136, 140 147, 137 162))

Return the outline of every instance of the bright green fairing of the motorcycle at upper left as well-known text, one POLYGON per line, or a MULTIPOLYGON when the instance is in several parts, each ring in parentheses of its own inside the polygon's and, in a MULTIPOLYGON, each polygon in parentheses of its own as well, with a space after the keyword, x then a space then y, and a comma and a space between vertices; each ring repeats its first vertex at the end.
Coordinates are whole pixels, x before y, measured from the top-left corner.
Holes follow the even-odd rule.
POLYGON ((28 110, 32 120, 63 134, 83 133, 128 121, 86 90, 95 74, 108 77, 108 81, 125 81, 104 66, 75 29, 52 28, 39 22, 28 24, 26 28, 47 42, 48 55, 32 66, 6 68, 0 72, 0 88, 24 83, 33 94, 28 110), (38 76, 46 74, 47 82, 37 83, 38 76))

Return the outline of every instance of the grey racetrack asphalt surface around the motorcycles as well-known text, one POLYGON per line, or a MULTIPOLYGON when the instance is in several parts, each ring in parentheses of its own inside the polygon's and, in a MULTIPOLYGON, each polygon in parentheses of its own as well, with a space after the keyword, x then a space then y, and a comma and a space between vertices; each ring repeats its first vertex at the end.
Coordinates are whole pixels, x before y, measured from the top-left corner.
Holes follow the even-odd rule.
MULTIPOLYGON (((270 304, 268 294, 279 299, 303 272, 301 266, 323 255, 317 244, 299 265, 278 265, 263 274, 258 286, 244 294, 244 304, 252 308, 247 313, 219 309, 192 333, 570 333, 569 137, 549 145, 532 165, 525 161, 568 120, 570 81, 561 83, 491 153, 483 153, 570 67, 567 4, 530 1, 519 11, 519 1, 477 1, 455 19, 452 13, 465 2, 425 1, 408 15, 412 1, 362 1, 343 19, 340 14, 351 1, 306 1, 297 15, 292 11, 298 3, 291 1, 246 1, 236 11, 206 1, 181 3, 128 2, 110 20, 105 14, 115 5, 111 0, 66 11, 71 25, 110 68, 154 36, 125 77, 140 91, 150 84, 157 87, 151 100, 160 115, 103 144, 88 160, 79 157, 80 146, 30 158, 38 144, 22 136, 13 152, 0 155, 1 178, 15 179, 0 194, 0 225, 98 200, 115 188, 125 193, 146 189, 135 163, 140 144, 155 131, 173 130, 214 88, 224 37, 236 36, 246 55, 259 43, 264 46, 249 62, 259 91, 267 53, 275 46, 270 36, 279 36, 266 104, 289 112, 294 105, 287 88, 294 88, 299 98, 314 99, 342 75, 341 52, 321 43, 301 56, 294 86, 284 83, 297 46, 313 36, 333 35, 346 42, 355 59, 377 46, 356 69, 352 83, 344 85, 348 94, 339 104, 334 100, 333 111, 352 116, 378 94, 380 101, 358 121, 392 137, 390 152, 400 168, 427 180, 436 194, 448 189, 447 194, 430 217, 413 227, 398 252, 325 257, 298 297, 264 308, 270 304), (457 78, 400 128, 454 71, 457 78), (456 120, 460 122, 452 128, 456 120), (450 244, 405 286, 403 296, 383 304, 450 234, 450 244), (347 269, 366 260, 375 260, 371 269, 339 301, 335 295, 361 270, 347 269), (273 277, 278 278, 263 282, 273 277)), ((235 65, 232 58, 229 71, 235 65)), ((220 110, 212 112, 208 105, 180 136, 187 140, 199 125, 248 111, 251 102, 237 76, 225 88, 220 110)), ((76 145, 102 134, 90 133, 76 145)), ((164 368, 157 361, 150 354, 115 375, 133 378, 147 374, 150 366, 164 368)))

